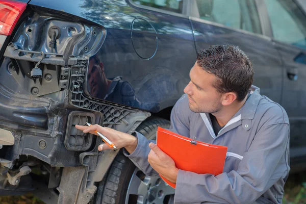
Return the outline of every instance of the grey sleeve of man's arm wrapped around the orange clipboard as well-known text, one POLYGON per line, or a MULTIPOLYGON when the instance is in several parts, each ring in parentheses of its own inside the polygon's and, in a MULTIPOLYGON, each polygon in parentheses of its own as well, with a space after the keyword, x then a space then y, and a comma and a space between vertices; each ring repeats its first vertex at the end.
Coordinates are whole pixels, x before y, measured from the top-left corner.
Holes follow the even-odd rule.
POLYGON ((289 123, 263 125, 237 171, 217 176, 179 170, 175 203, 252 203, 290 170, 289 123))

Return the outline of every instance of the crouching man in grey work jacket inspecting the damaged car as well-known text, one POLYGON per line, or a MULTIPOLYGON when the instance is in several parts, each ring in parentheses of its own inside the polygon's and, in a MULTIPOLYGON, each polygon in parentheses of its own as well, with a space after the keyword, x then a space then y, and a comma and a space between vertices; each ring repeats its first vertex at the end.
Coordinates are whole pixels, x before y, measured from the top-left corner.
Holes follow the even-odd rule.
POLYGON ((289 120, 259 90, 249 91, 253 69, 247 56, 232 45, 201 50, 190 79, 171 112, 170 130, 227 146, 224 170, 217 176, 177 169, 139 133, 134 137, 98 125, 77 128, 103 133, 117 147, 125 147, 125 155, 144 173, 158 172, 176 183, 174 203, 282 203, 290 170, 289 120))

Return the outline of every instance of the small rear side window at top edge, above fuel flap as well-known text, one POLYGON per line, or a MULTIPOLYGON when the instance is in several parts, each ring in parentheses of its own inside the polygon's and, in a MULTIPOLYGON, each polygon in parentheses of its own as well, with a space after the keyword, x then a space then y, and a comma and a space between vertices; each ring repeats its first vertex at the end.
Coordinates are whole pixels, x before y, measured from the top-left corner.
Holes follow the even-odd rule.
POLYGON ((182 0, 132 0, 135 4, 149 6, 175 13, 182 13, 183 1, 182 0))

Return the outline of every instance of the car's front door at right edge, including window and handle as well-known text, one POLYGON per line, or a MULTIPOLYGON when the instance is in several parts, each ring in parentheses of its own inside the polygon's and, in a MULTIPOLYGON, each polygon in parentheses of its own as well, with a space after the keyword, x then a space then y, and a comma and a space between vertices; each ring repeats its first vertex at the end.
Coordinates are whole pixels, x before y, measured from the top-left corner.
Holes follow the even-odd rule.
MULTIPOLYGON (((283 59, 284 90, 281 105, 290 120, 290 154, 306 155, 306 15, 305 1, 265 0, 273 41, 283 59), (298 5, 300 2, 304 5, 298 5)), ((292 161, 295 163, 295 161, 292 161)))

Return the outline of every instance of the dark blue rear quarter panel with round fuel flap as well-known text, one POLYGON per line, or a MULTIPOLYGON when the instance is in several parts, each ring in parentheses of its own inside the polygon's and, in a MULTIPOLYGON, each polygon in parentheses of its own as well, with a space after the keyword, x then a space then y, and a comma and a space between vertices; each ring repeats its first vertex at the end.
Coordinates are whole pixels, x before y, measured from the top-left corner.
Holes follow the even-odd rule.
POLYGON ((95 98, 159 112, 172 107, 189 82, 196 60, 191 23, 184 15, 184 1, 126 3, 112 9, 93 4, 87 8, 87 18, 107 30, 103 45, 90 59, 88 91, 95 98))

